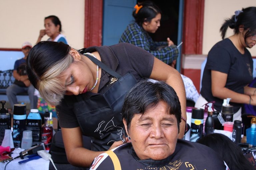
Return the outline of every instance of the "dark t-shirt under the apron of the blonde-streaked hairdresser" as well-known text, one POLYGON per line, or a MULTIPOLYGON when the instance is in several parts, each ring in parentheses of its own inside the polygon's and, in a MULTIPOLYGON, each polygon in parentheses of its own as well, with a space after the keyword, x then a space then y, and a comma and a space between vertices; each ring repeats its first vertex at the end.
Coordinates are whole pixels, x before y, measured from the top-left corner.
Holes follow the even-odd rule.
MULTIPOLYGON (((119 43, 112 46, 93 46, 86 48, 86 52, 94 51, 99 52, 101 62, 121 76, 131 72, 136 80, 141 80, 142 78, 148 78, 151 75, 154 56, 140 47, 129 43, 119 43)), ((112 84, 110 84, 111 78, 113 78, 113 76, 101 69, 98 93, 103 94, 112 86, 112 84)), ((81 95, 83 99, 85 99, 89 98, 93 93, 87 92, 81 95)), ((79 127, 77 118, 73 112, 73 104, 75 102, 77 102, 75 95, 65 96, 61 104, 56 106, 60 127, 79 127)), ((120 114, 120 116, 122 115, 120 114)))

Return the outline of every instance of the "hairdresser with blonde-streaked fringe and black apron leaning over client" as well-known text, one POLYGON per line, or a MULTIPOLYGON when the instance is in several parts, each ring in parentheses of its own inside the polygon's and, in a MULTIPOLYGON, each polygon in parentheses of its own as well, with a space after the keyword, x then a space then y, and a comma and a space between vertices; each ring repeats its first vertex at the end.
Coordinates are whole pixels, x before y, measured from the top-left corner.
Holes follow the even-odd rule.
MULTIPOLYGON (((97 155, 128 139, 123 137, 122 105, 126 93, 143 78, 172 86, 186 119, 179 72, 129 43, 77 51, 62 42, 39 42, 29 53, 27 72, 40 95, 56 105, 67 158, 75 166, 89 167, 97 155), (82 135, 91 137, 91 150, 83 147, 82 135)), ((182 121, 179 138, 184 132, 182 121)))

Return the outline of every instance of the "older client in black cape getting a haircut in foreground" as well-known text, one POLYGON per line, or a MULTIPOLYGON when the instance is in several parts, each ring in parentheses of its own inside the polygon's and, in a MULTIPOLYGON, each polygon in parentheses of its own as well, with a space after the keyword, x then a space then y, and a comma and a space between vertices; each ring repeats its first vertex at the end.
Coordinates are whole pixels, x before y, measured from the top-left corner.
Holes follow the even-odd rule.
POLYGON ((100 154, 91 169, 228 169, 211 148, 178 139, 181 107, 168 84, 137 83, 122 114, 130 141, 100 154))

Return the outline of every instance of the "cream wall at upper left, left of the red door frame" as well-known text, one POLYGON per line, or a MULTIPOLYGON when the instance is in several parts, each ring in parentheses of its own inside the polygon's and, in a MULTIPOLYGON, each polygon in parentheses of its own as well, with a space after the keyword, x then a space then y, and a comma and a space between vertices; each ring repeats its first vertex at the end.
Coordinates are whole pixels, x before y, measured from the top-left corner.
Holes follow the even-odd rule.
POLYGON ((49 15, 59 17, 69 45, 83 47, 84 0, 0 0, 0 48, 21 48, 25 41, 35 44, 49 15))

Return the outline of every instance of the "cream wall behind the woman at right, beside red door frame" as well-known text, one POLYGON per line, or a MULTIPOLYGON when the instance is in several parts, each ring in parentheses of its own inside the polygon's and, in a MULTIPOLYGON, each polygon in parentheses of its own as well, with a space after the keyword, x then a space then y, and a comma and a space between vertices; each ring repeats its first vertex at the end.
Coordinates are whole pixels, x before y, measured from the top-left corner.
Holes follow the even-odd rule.
MULTIPOLYGON (((211 47, 221 41, 219 32, 225 19, 249 6, 256 6, 255 0, 205 0, 203 54, 208 54, 211 47)), ((233 35, 233 30, 228 28, 226 37, 233 35)), ((256 56, 256 47, 249 49, 252 56, 256 56)))

